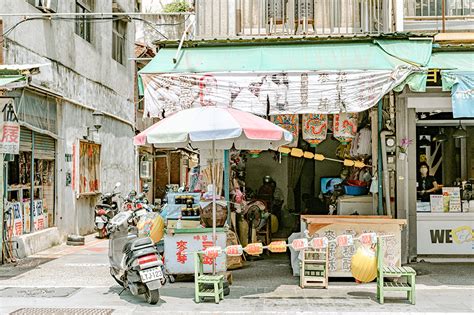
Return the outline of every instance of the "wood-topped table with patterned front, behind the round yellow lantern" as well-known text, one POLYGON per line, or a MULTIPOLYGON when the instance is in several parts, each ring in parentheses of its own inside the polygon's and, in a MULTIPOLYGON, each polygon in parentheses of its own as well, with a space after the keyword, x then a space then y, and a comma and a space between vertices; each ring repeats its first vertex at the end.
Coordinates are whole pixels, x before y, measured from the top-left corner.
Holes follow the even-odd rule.
MULTIPOLYGON (((401 230, 406 220, 392 219, 389 216, 337 216, 337 215, 302 215, 302 231, 307 229, 311 236, 325 236, 329 240, 342 234, 358 237, 362 233, 375 232, 377 235, 393 235, 384 238, 384 261, 388 266, 401 265, 401 230)), ((351 258, 359 242, 353 246, 337 247, 334 242, 329 244, 329 276, 352 277, 351 258)))

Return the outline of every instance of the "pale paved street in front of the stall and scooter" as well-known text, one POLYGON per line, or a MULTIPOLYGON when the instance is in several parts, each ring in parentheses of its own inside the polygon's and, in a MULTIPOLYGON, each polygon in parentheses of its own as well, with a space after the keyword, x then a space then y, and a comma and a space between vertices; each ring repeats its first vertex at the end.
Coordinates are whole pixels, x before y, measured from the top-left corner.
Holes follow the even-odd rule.
POLYGON ((86 246, 61 245, 21 265, 0 267, 0 314, 27 308, 43 314, 60 308, 88 314, 195 313, 474 313, 473 264, 417 264, 417 304, 398 298, 375 301, 375 285, 330 281, 329 289, 300 289, 286 256, 247 264, 233 272, 231 294, 219 305, 193 302, 193 283, 181 279, 161 290, 161 301, 146 304, 121 288, 108 274, 107 241, 88 237, 86 246), (45 308, 50 308, 46 310, 45 308), (92 312, 97 309, 97 312, 92 312), (100 312, 99 312, 100 311, 100 312))

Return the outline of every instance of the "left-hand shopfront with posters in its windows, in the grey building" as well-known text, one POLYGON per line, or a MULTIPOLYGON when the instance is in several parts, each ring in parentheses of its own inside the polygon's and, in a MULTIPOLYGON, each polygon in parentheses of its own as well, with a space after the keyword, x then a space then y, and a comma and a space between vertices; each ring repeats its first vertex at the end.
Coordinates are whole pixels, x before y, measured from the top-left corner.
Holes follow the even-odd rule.
POLYGON ((20 150, 8 155, 5 181, 11 234, 20 236, 56 223, 56 99, 30 90, 14 99, 20 150))

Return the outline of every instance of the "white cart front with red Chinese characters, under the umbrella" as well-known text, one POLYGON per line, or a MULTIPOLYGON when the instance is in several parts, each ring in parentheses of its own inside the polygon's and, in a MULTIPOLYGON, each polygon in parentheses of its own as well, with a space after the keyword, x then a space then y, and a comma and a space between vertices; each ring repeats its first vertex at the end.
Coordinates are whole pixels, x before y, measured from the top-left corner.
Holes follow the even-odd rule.
MULTIPOLYGON (((179 233, 175 230, 173 235, 165 235, 165 265, 171 274, 192 274, 194 273, 194 253, 205 251, 206 248, 213 247, 212 233, 179 233)), ((217 246, 226 247, 226 234, 217 233, 217 246)), ((213 259, 204 256, 204 272, 212 272, 213 259)), ((216 271, 226 270, 226 255, 220 253, 215 259, 216 271)))

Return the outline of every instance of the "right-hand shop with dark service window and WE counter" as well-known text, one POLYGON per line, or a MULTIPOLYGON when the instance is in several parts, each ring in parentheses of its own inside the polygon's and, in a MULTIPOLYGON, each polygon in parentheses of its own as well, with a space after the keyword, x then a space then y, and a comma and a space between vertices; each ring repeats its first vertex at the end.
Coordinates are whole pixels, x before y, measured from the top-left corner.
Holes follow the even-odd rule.
POLYGON ((397 166, 412 259, 474 254, 473 62, 465 52, 433 53, 426 91, 397 99, 397 136, 416 140, 397 166))

